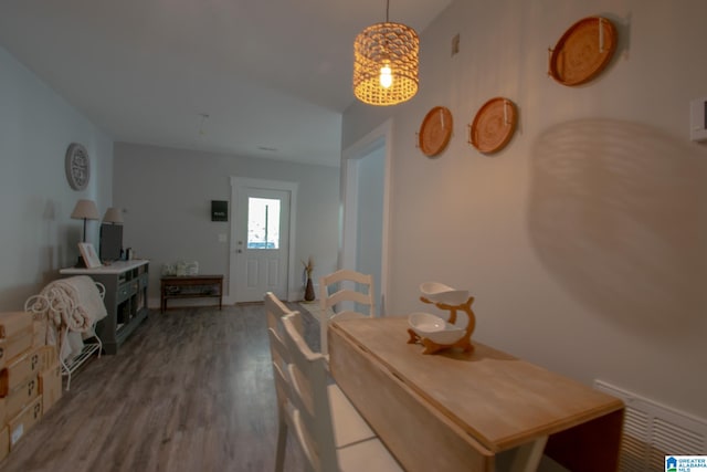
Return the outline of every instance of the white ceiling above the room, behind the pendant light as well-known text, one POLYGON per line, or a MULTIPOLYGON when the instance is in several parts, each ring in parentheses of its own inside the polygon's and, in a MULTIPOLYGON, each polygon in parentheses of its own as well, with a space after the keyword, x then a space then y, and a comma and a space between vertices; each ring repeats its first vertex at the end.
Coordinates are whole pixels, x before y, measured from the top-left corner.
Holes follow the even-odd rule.
MULTIPOLYGON (((389 18, 421 33, 451 1, 389 18)), ((0 45, 116 141, 338 166, 354 39, 384 19, 384 0, 2 0, 0 45)))

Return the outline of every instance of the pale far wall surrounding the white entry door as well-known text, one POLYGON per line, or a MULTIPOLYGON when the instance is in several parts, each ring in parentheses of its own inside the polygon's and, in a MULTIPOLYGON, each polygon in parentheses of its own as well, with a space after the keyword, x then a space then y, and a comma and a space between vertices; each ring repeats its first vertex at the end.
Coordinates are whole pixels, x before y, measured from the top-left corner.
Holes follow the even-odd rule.
POLYGON ((151 306, 159 306, 162 264, 179 260, 199 262, 203 274, 224 274, 228 291, 231 222, 211 221, 211 200, 231 199, 232 176, 299 182, 295 261, 312 255, 315 280, 336 269, 338 168, 119 143, 114 199, 126 210, 124 245, 150 260, 151 306))

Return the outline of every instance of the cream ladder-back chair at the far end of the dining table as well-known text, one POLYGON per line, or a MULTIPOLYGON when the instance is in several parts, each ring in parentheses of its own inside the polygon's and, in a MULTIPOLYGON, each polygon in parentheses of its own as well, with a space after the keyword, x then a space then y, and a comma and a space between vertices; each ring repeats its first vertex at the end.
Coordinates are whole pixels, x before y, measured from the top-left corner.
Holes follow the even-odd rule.
POLYGON ((373 276, 340 269, 319 279, 319 336, 328 361, 327 329, 334 318, 376 316, 373 276))

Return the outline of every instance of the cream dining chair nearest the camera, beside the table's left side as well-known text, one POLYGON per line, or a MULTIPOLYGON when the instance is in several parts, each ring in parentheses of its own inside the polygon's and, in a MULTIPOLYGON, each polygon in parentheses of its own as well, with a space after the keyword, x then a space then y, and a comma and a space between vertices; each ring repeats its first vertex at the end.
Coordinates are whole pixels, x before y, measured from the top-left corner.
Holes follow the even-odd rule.
POLYGON ((284 344, 291 356, 287 373, 283 374, 289 380, 289 424, 304 452, 305 469, 316 472, 402 471, 372 431, 372 436, 361 437, 361 424, 370 428, 341 390, 330 388, 326 359, 323 354, 313 353, 305 342, 300 314, 294 312, 282 322, 284 344), (333 398, 333 391, 341 398, 333 398), (335 406, 341 401, 350 409, 335 406))

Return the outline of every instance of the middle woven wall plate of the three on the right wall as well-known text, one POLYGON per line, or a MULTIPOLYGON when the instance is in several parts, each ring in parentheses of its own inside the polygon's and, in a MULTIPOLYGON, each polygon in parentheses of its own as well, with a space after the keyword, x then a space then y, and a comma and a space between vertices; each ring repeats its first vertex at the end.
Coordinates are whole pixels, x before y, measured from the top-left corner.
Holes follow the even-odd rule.
POLYGON ((476 112, 468 141, 481 153, 497 153, 508 144, 517 123, 516 105, 508 98, 494 97, 476 112))

